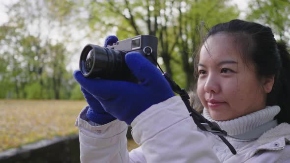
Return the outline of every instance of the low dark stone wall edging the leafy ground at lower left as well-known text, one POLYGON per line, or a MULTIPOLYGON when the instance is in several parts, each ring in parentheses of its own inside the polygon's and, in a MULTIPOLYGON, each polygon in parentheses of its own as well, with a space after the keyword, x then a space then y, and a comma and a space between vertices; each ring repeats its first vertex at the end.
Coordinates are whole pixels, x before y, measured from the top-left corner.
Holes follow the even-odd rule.
POLYGON ((56 137, 4 151, 0 163, 80 163, 79 136, 56 137))

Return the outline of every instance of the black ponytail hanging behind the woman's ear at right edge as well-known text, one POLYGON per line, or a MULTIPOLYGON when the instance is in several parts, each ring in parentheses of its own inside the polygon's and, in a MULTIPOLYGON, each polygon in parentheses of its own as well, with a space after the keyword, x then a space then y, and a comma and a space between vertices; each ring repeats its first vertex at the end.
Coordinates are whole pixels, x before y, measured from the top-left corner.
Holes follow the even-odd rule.
MULTIPOLYGON (((281 57, 282 67, 277 74, 275 84, 269 98, 276 99, 275 105, 280 106, 281 111, 275 118, 278 123, 287 122, 290 124, 290 54, 285 42, 277 42, 278 52, 281 57), (272 97, 271 97, 272 96, 272 97), (273 97, 276 96, 276 97, 273 97)), ((269 102, 270 99, 267 99, 269 102)))

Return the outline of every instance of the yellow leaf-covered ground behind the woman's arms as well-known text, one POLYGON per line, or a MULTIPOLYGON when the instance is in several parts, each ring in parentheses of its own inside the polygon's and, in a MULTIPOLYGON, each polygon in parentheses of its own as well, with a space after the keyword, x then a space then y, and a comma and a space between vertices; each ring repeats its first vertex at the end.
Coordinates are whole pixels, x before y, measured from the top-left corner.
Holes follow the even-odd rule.
MULTIPOLYGON (((0 152, 9 148, 77 134, 75 120, 85 101, 0 100, 0 152)), ((128 150, 136 148, 128 141, 128 150)))

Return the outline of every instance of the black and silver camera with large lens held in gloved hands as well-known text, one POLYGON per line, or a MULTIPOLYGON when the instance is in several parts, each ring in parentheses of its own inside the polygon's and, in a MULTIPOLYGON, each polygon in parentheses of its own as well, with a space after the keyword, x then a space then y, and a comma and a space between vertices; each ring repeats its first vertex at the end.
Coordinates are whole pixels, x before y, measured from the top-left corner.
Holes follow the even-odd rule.
POLYGON ((108 47, 87 44, 80 57, 80 71, 87 78, 132 81, 136 78, 125 62, 129 52, 139 52, 156 66, 158 39, 152 35, 138 35, 117 41, 108 47))

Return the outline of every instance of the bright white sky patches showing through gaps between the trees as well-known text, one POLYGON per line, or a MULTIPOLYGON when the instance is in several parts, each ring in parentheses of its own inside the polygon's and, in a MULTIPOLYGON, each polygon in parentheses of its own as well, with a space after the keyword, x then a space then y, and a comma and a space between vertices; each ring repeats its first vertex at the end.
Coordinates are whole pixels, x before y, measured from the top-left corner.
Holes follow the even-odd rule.
MULTIPOLYGON (((14 3, 16 1, 17 0, 0 0, 0 25, 8 21, 7 14, 5 13, 5 12, 7 12, 6 8, 5 8, 5 5, 14 3)), ((245 11, 247 10, 248 2, 249 2, 249 0, 232 0, 230 2, 232 4, 237 4, 238 8, 241 10, 240 19, 243 19, 244 16, 245 16, 245 11)), ((43 30, 46 30, 46 29, 44 28, 43 30)), ((72 36, 72 37, 75 37, 75 38, 79 37, 80 32, 76 31, 75 33, 76 33, 76 35, 72 36)), ((55 33, 54 35, 57 37, 58 33, 55 33)), ((104 40, 104 38, 102 38, 101 40, 104 40)), ((81 41, 81 43, 79 45, 84 45, 85 46, 88 42, 92 42, 92 40, 83 40, 83 41, 81 41)), ((67 46, 68 50, 73 48, 73 46, 75 46, 75 45, 67 46)), ((82 48, 80 48, 80 52, 81 52, 81 50, 82 50, 82 48)), ((70 70, 76 70, 76 69, 79 68, 79 55, 80 54, 74 54, 71 57, 71 61, 66 67, 68 70, 69 69, 70 70)))

